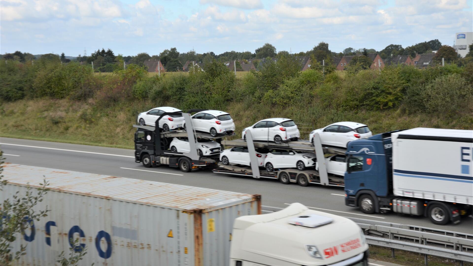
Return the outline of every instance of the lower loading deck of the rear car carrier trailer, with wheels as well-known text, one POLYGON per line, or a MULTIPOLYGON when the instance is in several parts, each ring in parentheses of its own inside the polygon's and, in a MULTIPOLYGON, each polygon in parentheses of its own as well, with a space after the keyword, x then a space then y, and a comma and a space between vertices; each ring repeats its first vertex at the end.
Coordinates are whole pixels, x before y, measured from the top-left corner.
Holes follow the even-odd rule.
POLYGON ((248 176, 254 178, 270 178, 279 179, 283 184, 298 183, 300 186, 308 186, 310 184, 318 184, 324 186, 344 186, 344 179, 341 176, 329 174, 328 184, 323 184, 320 181, 319 172, 312 169, 298 170, 296 168, 280 169, 274 172, 266 172, 260 170, 257 175, 253 175, 253 171, 249 167, 236 165, 223 165, 219 163, 218 168, 212 170, 214 173, 248 176))

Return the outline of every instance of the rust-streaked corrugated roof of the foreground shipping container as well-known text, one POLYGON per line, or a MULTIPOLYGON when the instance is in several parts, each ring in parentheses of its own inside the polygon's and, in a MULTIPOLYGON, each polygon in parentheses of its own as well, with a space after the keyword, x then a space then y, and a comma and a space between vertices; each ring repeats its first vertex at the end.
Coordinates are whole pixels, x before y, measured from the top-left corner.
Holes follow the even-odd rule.
POLYGON ((2 174, 12 185, 40 187, 45 178, 54 191, 191 212, 259 199, 259 195, 9 163, 2 174))

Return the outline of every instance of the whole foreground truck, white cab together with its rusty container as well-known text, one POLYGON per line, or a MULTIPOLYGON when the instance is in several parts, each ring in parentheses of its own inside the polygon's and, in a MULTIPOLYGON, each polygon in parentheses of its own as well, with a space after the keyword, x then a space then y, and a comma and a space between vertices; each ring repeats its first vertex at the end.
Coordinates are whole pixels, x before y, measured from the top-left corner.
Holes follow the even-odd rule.
POLYGON ((53 265, 68 248, 87 248, 84 265, 367 265, 356 223, 301 204, 258 215, 259 195, 15 164, 3 175, 2 201, 49 182, 35 209, 51 212, 15 242, 27 244, 20 265, 53 265))

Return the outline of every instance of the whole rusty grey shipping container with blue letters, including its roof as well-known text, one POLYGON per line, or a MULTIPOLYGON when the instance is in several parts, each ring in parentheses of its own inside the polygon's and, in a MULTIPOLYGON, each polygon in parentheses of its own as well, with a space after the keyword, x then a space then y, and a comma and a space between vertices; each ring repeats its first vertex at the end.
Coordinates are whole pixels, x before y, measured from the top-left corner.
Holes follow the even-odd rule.
POLYGON ((261 214, 260 195, 8 163, 3 175, 2 201, 49 183, 19 265, 53 265, 79 238, 81 265, 228 266, 235 218, 261 214))

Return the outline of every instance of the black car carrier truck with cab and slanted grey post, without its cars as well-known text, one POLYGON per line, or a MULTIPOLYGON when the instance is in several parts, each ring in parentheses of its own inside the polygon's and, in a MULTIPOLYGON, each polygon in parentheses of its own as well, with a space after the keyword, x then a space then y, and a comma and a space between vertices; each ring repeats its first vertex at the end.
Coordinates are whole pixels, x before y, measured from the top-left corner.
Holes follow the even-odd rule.
POLYGON ((182 115, 186 124, 186 130, 177 130, 171 132, 161 132, 158 126, 138 125, 135 132, 135 162, 142 163, 144 167, 154 167, 158 165, 168 165, 181 169, 183 172, 196 171, 202 168, 214 168, 217 166, 217 158, 213 156, 201 157, 198 152, 198 142, 200 139, 219 139, 224 137, 212 137, 209 133, 196 132, 193 129, 191 113, 200 112, 204 110, 189 110, 184 112, 163 113, 156 120, 159 120, 165 115, 182 115), (189 140, 189 146, 195 147, 189 152, 169 151, 169 144, 174 137, 186 137, 189 140))

